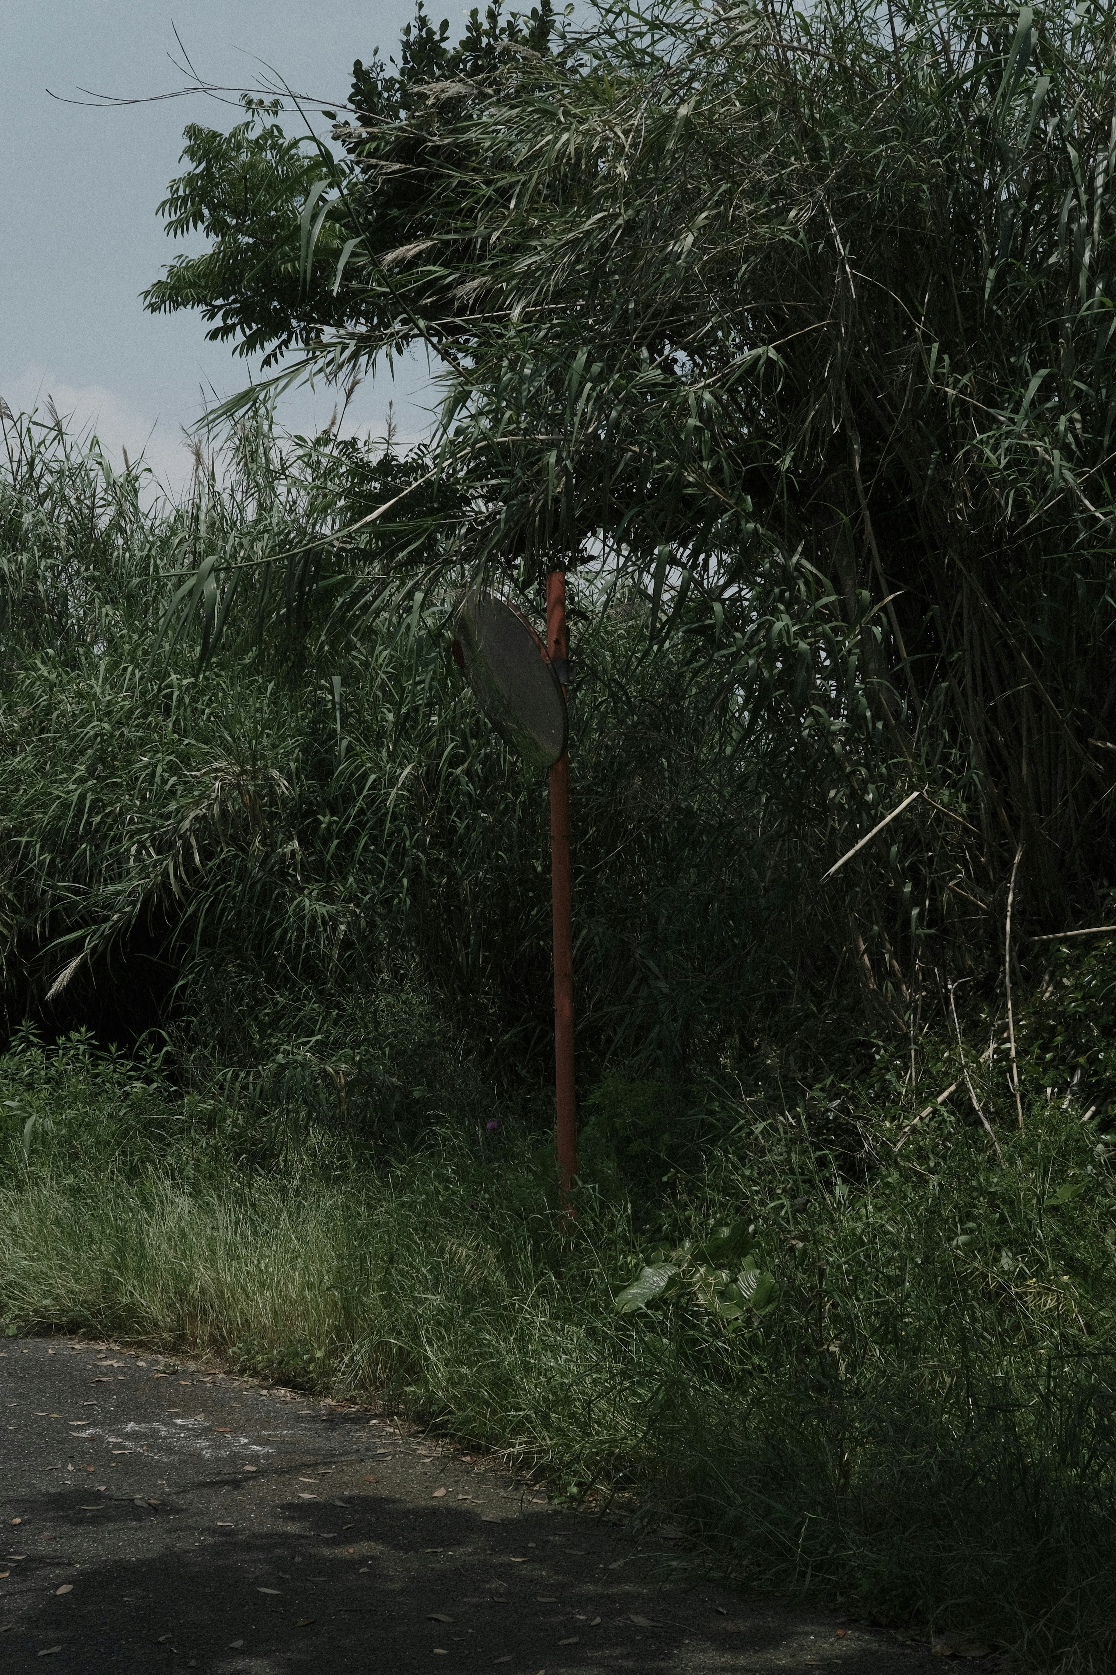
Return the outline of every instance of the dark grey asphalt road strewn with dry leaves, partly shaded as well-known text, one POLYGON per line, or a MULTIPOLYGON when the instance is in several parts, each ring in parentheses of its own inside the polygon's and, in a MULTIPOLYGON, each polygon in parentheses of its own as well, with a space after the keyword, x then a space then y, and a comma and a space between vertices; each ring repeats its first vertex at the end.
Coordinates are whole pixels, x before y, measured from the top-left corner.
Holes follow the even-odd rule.
POLYGON ((363 1409, 0 1340, 0 1670, 917 1675, 363 1409), (673 1578, 683 1578, 683 1583, 673 1578))

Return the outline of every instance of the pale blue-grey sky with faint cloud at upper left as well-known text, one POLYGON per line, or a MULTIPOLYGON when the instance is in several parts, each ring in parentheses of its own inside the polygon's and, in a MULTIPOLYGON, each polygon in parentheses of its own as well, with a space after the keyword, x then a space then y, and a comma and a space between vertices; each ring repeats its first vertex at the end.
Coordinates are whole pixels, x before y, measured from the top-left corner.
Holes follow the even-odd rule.
MULTIPOLYGON (((450 18, 453 32, 460 10, 450 18)), ((79 430, 95 427, 119 462, 144 452, 159 479, 189 476, 182 432, 206 400, 239 390, 249 363, 206 342, 201 315, 149 315, 139 291, 179 251, 157 214, 181 173, 182 127, 231 127, 238 107, 194 95, 125 109, 52 99, 151 97, 191 79, 182 47, 207 82, 251 87, 271 65, 320 109, 345 102, 353 59, 392 54, 413 0, 0 0, 0 394, 13 410, 47 395, 79 430), (263 60, 263 62, 259 62, 263 60)), ((346 429, 381 434, 388 402, 400 441, 428 429, 425 363, 393 384, 365 384, 346 429)), ((284 397, 296 430, 325 424, 333 392, 284 397)))

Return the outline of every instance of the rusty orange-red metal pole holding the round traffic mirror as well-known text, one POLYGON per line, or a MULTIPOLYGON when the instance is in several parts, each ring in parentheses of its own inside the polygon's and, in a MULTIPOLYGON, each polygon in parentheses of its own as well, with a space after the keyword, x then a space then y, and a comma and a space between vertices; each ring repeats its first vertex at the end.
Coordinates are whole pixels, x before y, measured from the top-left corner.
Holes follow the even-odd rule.
MULTIPOLYGON (((547 575, 547 652, 569 692, 566 576, 547 575)), ((574 1099, 574 916, 569 876, 569 749, 550 769, 550 899, 554 906, 554 1090, 557 1095, 557 1164, 562 1199, 577 1174, 577 1106, 574 1099)))

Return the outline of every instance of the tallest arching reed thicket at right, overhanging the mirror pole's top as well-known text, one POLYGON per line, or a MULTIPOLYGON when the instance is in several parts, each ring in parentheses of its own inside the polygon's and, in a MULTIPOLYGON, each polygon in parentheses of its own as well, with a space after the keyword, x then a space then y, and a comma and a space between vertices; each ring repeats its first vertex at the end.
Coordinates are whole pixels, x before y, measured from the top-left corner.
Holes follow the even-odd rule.
POLYGON ((381 596, 447 566, 646 588, 818 863, 925 789, 949 812, 828 886, 882 1017, 927 933, 1002 948, 1016 858, 1036 928, 1096 913, 1111 7, 684 3, 530 44, 489 13, 457 57, 423 28, 358 72, 284 234, 330 281, 310 365, 442 357, 453 509, 381 596))

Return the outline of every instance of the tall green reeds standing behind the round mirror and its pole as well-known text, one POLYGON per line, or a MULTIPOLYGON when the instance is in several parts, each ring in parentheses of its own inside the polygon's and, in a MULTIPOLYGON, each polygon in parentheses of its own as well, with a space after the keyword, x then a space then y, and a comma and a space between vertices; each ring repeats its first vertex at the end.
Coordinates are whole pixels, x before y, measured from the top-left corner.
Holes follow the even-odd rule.
MULTIPOLYGON (((279 439, 256 419, 172 506, 50 424, 10 422, 8 442, 10 1023, 132 1040, 181 1020, 197 1074, 274 1060, 286 1084, 301 1065, 346 1109, 385 1109, 423 1084, 428 1047, 403 1065, 388 1040, 413 1010, 417 1042, 438 1037, 452 1057, 450 1037, 465 1038, 485 1074, 535 1085, 550 1030, 545 784, 520 774, 458 682, 452 591, 398 616, 326 600, 301 638, 283 628, 263 643, 234 601, 204 668, 197 640, 167 626, 197 543, 313 556, 323 531, 417 467, 331 436, 279 439)), ((679 1069, 735 1035, 765 920, 746 888, 755 853, 735 843, 753 784, 703 714, 684 650, 648 658, 644 626, 644 601, 612 601, 581 645, 591 1077, 641 1052, 679 1069)))

